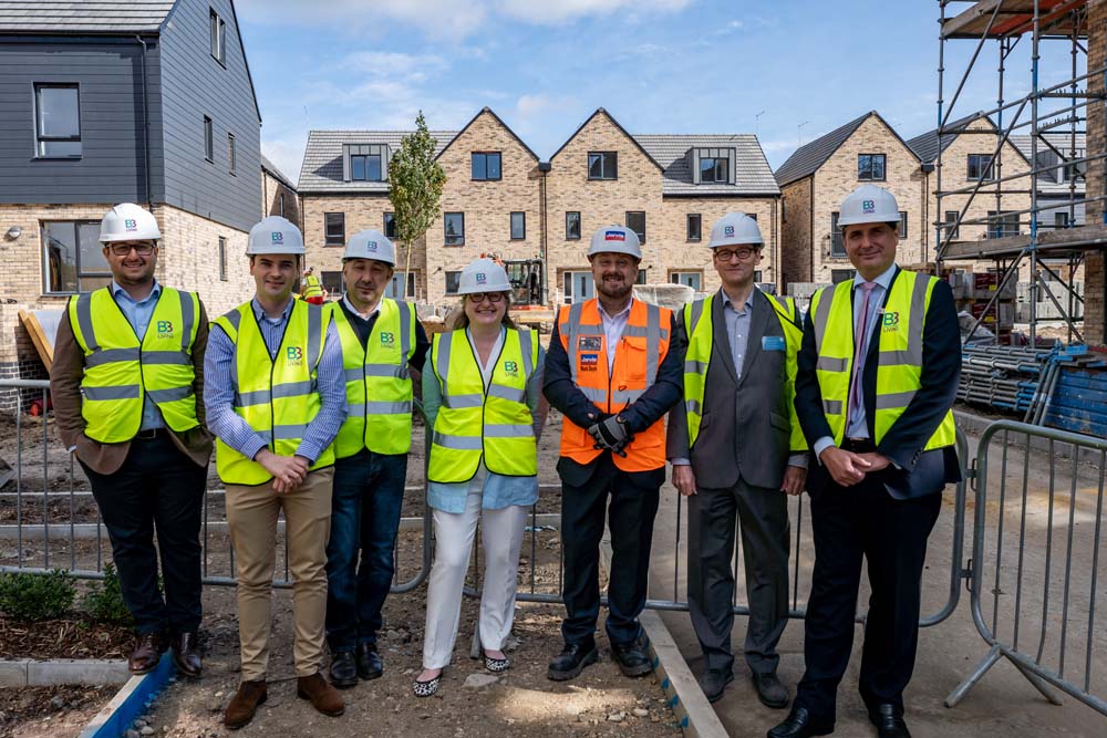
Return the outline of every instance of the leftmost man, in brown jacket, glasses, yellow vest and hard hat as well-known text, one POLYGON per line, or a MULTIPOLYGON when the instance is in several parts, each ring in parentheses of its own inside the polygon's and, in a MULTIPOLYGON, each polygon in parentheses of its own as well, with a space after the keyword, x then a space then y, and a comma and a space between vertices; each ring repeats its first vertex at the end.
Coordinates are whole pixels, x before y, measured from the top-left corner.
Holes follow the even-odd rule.
POLYGON ((89 477, 112 540, 137 634, 131 672, 152 671, 172 645, 177 671, 196 677, 200 510, 211 456, 197 398, 208 326, 195 293, 154 278, 161 238, 157 220, 137 205, 104 216, 100 242, 112 282, 70 298, 50 394, 59 435, 89 477))

